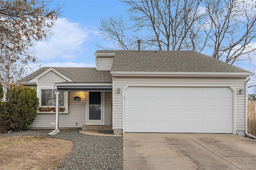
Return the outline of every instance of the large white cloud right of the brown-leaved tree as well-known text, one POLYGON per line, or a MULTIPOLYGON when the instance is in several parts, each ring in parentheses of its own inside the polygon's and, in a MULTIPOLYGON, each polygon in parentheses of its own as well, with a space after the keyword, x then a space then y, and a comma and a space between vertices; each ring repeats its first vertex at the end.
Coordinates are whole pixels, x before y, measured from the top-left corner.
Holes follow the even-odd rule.
POLYGON ((34 51, 38 60, 76 58, 86 47, 84 42, 90 36, 98 35, 98 31, 81 28, 79 23, 69 22, 66 18, 58 18, 52 28, 54 33, 42 42, 36 42, 34 51))

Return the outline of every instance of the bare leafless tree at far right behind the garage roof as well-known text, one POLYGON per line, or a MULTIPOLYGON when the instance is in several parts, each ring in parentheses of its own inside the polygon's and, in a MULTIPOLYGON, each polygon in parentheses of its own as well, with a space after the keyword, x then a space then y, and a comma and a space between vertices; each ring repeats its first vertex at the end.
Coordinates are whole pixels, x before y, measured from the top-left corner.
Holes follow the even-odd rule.
POLYGON ((205 0, 204 46, 212 57, 233 64, 252 59, 256 50, 256 4, 253 1, 205 0))

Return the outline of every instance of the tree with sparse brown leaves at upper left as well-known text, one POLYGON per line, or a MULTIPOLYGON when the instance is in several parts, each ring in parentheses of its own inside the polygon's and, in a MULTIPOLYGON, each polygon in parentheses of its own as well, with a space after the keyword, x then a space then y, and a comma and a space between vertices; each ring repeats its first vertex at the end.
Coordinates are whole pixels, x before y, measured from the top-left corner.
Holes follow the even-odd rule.
POLYGON ((36 41, 51 35, 62 6, 48 7, 52 0, 0 0, 0 83, 6 87, 21 78, 24 67, 36 63, 36 41))

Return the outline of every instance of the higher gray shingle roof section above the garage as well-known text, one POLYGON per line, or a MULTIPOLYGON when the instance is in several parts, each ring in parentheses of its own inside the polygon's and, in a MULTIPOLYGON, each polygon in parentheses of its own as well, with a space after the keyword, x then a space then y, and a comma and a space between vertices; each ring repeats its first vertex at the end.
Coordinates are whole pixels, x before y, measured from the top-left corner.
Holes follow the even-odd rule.
POLYGON ((116 53, 111 71, 250 73, 195 51, 106 51, 116 53))

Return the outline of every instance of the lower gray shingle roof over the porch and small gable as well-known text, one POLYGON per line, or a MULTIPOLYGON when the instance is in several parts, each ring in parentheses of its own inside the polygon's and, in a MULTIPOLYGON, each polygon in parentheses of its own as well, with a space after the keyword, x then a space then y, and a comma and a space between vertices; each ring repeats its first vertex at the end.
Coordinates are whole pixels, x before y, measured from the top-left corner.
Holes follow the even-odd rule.
MULTIPOLYGON (((20 82, 28 82, 50 67, 42 67, 37 71, 20 79, 20 82)), ((96 71, 95 67, 53 67, 74 82, 69 83, 112 83, 110 71, 96 71)))

